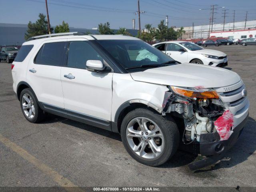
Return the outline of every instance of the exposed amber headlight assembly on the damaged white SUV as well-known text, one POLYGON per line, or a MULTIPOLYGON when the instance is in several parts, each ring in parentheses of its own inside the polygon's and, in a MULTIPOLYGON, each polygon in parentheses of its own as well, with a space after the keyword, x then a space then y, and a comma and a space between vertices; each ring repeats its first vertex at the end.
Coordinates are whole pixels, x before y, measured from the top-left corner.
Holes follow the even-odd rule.
POLYGON ((171 86, 172 91, 180 96, 187 98, 203 98, 203 99, 218 99, 218 93, 213 89, 198 87, 198 88, 182 88, 171 86))

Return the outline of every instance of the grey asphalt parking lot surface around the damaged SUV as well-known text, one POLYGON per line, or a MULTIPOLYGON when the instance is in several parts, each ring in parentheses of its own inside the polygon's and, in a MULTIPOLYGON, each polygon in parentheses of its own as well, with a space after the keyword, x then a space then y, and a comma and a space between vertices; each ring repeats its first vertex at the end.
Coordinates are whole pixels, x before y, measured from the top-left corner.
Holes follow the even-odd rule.
POLYGON ((192 172, 179 150, 160 167, 142 165, 118 134, 58 116, 28 122, 12 90, 10 64, 0 63, 0 186, 254 186, 256 187, 256 46, 207 47, 228 55, 243 79, 250 118, 235 146, 215 166, 192 172))

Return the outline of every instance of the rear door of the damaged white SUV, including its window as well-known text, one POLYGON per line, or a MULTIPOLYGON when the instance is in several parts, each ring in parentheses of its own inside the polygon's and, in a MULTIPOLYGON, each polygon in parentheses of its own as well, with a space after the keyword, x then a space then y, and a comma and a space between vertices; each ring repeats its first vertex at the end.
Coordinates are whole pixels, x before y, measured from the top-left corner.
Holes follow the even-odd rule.
POLYGON ((67 39, 46 40, 29 61, 27 82, 38 101, 64 108, 60 69, 66 65, 67 39))

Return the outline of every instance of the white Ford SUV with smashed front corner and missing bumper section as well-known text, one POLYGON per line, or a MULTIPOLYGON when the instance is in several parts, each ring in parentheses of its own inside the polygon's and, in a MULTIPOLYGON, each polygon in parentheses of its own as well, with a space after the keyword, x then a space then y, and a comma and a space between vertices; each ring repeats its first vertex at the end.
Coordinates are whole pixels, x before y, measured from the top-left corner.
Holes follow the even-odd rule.
POLYGON ((28 121, 52 113, 120 133, 127 152, 150 166, 166 162, 179 145, 199 146, 206 156, 192 170, 212 164, 248 118, 238 74, 178 64, 130 36, 30 38, 12 63, 12 77, 28 121))

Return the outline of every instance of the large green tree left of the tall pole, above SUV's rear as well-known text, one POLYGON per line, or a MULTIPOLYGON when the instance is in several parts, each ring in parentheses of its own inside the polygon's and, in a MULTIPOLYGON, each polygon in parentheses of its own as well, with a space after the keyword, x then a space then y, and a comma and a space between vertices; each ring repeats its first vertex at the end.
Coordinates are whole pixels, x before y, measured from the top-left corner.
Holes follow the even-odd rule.
MULTIPOLYGON (((53 31, 53 28, 50 27, 50 32, 53 31)), ((45 35, 48 34, 48 23, 46 16, 42 13, 39 14, 39 19, 35 23, 31 21, 28 23, 28 30, 25 33, 25 39, 27 40, 30 37, 45 35)))

